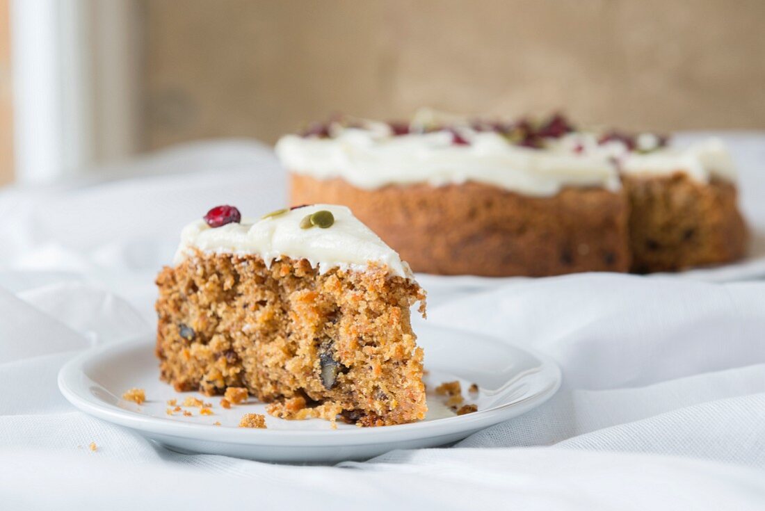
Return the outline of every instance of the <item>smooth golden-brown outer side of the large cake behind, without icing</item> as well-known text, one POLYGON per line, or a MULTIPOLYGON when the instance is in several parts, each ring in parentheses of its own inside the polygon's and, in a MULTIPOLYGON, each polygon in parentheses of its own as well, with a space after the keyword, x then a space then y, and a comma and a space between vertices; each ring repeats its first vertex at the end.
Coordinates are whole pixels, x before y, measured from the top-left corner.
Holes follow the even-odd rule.
POLYGON ((554 197, 529 197, 473 182, 363 190, 341 179, 291 174, 291 201, 350 207, 415 272, 545 276, 630 269, 623 191, 566 188, 554 197))

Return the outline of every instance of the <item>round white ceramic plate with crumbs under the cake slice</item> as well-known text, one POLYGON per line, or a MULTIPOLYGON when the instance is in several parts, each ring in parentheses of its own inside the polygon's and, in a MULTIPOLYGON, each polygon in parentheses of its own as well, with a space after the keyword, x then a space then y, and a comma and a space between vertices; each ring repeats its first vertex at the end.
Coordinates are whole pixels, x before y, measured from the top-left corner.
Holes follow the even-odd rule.
POLYGON ((153 338, 108 344, 88 350, 60 370, 63 395, 90 415, 128 428, 168 448, 182 452, 225 454, 262 461, 337 462, 366 459, 392 449, 425 448, 448 444, 471 433, 528 412, 549 399, 560 386, 561 373, 548 357, 479 334, 418 327, 418 343, 425 349, 428 389, 458 379, 466 403, 478 411, 455 415, 444 398, 428 393, 428 417, 413 424, 357 428, 321 419, 285 421, 266 415, 268 429, 239 428, 245 413, 264 413, 265 405, 249 403, 226 410, 220 398, 197 392, 175 392, 158 379, 153 338), (480 386, 477 395, 468 386, 480 386), (132 387, 145 389, 143 405, 121 399, 132 387), (167 400, 178 403, 195 396, 213 404, 215 415, 199 415, 184 408, 167 415, 167 400), (220 426, 213 425, 220 421, 220 426))

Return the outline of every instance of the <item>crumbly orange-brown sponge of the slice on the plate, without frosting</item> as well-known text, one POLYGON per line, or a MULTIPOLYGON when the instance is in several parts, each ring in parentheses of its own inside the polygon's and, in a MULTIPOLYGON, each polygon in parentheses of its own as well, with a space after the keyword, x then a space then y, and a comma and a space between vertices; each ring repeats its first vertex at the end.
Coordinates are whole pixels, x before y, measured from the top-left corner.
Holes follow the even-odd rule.
POLYGON ((425 416, 423 353, 409 321, 425 295, 411 280, 379 267, 319 275, 304 259, 266 268, 256 255, 197 251, 157 284, 156 353, 177 390, 243 387, 316 412, 303 417, 334 419, 331 411, 360 425, 425 416))

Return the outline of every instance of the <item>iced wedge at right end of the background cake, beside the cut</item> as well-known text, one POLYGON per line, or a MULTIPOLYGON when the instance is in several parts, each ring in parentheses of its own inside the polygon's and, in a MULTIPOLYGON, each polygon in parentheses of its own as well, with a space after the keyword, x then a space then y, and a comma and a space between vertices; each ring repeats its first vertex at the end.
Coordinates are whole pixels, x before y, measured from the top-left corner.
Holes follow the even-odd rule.
POLYGON ((735 168, 721 141, 630 153, 619 162, 630 200, 633 272, 671 272, 741 259, 747 228, 735 168))

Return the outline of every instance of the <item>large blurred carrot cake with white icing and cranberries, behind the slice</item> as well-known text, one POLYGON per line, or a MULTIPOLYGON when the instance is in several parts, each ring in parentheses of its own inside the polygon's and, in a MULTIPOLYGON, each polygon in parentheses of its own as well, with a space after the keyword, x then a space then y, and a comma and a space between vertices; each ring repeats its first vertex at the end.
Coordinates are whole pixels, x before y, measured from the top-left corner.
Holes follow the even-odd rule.
POLYGON ((740 258, 746 229, 717 140, 422 111, 338 118, 276 152, 293 203, 345 204, 419 272, 656 272, 740 258), (384 212, 384 213, 382 213, 384 212))

